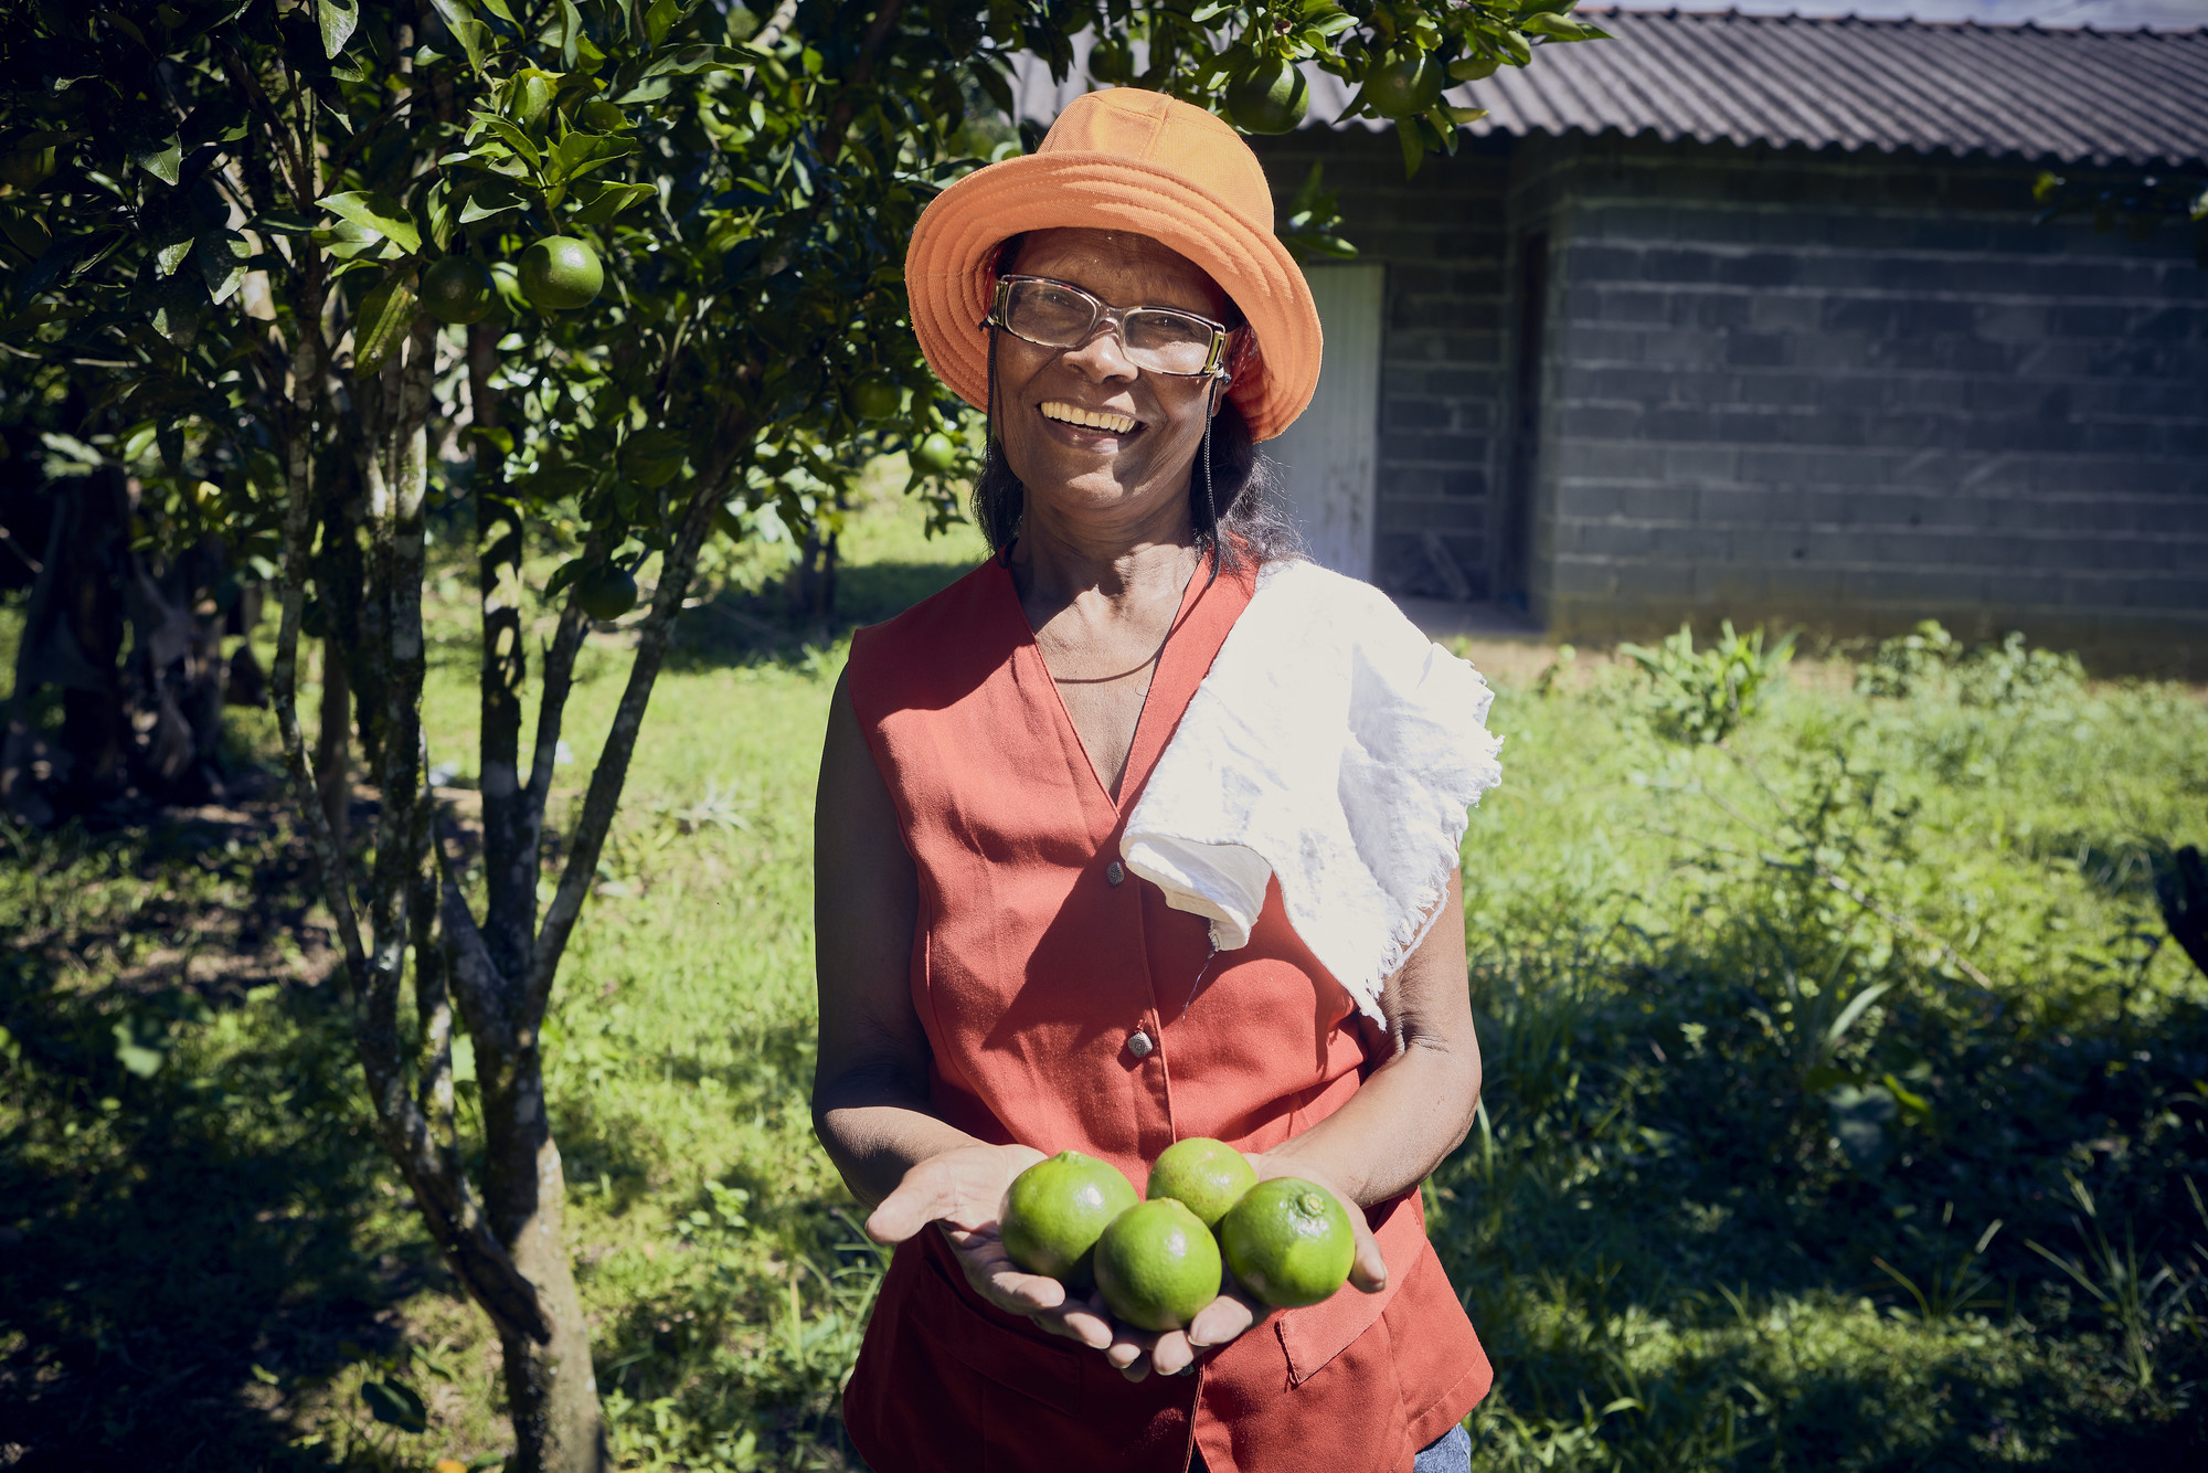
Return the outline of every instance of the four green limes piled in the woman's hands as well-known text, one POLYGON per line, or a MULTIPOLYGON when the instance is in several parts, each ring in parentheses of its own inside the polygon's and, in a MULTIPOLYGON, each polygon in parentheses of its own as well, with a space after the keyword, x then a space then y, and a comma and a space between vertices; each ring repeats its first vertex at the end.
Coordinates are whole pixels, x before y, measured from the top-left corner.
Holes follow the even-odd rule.
POLYGON ((1254 1299, 1316 1305, 1349 1279, 1356 1234, 1327 1188, 1259 1181, 1241 1151, 1190 1137, 1150 1166, 1148 1199, 1108 1162, 1060 1151, 1005 1197, 1005 1252, 1073 1292, 1095 1285, 1139 1329, 1181 1329, 1219 1296, 1221 1265, 1254 1299))

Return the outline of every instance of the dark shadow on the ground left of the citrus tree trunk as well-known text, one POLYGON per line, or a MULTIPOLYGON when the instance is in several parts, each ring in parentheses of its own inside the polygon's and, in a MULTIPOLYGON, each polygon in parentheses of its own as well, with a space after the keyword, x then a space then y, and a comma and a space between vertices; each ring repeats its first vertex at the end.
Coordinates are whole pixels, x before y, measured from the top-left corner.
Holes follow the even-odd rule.
POLYGON ((351 1089, 344 1000, 265 945, 298 921, 276 912, 296 855, 238 844, 265 817, 75 835, 7 881, 13 1469, 329 1466, 327 1446, 291 1446, 287 1398, 389 1349, 393 1307, 442 1276, 406 1248, 417 1234, 378 1221, 397 1204, 351 1089), (261 903, 223 910, 223 886, 261 903))

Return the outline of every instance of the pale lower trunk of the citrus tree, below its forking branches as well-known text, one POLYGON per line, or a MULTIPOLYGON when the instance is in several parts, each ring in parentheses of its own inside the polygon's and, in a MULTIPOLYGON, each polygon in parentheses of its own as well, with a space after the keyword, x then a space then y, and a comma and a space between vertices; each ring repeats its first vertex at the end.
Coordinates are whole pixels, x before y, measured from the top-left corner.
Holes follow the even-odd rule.
POLYGON ((552 1323, 543 1345, 499 1327, 506 1400, 514 1418, 521 1473, 601 1473, 612 1469, 598 1376, 590 1365, 590 1323, 567 1259, 567 1177, 545 1120, 543 1060, 537 1045, 508 1058, 477 1051, 484 1089, 484 1212, 514 1268, 537 1285, 552 1323))

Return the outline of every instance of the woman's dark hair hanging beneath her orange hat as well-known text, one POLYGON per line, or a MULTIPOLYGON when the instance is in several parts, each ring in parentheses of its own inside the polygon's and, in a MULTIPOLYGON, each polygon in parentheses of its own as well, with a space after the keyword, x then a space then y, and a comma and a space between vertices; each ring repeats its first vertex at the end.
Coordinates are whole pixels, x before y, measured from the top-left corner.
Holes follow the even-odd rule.
MULTIPOLYGON (((998 276, 1011 272, 1025 243, 1027 236, 1018 234, 998 245, 994 258, 998 276)), ((1241 327, 1245 320, 1232 296, 1225 318, 1230 327, 1241 327)), ((989 453, 974 479, 974 521, 989 539, 989 550, 1002 557, 1020 534, 1020 521, 1027 515, 1027 486, 1011 473, 1005 442, 996 433, 996 333, 998 329, 991 327, 989 453)), ((1236 572, 1245 559, 1263 568, 1307 557, 1303 532, 1296 530, 1296 517, 1281 495, 1278 468, 1259 455, 1256 439, 1250 437, 1250 422, 1234 400, 1219 406, 1203 446, 1210 453, 1210 475, 1203 475, 1203 464, 1188 468, 1188 519, 1197 528, 1197 545, 1212 559, 1212 570, 1236 572), (1225 537, 1219 537, 1221 530, 1225 537)))

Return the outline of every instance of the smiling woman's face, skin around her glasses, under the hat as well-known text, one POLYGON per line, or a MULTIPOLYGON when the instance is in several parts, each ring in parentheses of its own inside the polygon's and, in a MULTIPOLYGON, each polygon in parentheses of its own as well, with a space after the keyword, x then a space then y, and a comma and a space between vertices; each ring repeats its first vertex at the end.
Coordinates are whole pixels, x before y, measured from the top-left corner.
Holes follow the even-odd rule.
MULTIPOLYGON (((1225 292, 1148 236, 1038 230, 1011 272, 1073 283, 1113 307, 1179 307, 1225 320, 1225 292)), ((1210 380, 1144 373, 1108 329, 1073 349, 998 331, 996 373, 1005 457, 1031 510, 1186 517, 1210 380), (1111 424, 1095 426, 1097 415, 1111 424)))

